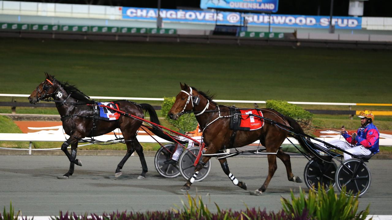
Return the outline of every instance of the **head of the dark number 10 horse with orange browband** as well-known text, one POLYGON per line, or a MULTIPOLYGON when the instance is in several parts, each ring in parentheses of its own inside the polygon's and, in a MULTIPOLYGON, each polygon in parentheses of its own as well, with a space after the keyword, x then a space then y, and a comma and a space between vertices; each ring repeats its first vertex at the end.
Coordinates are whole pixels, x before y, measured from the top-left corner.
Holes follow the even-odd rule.
POLYGON ((28 97, 31 104, 36 104, 40 100, 49 98, 53 96, 56 92, 57 88, 59 87, 58 82, 54 78, 45 72, 45 80, 39 84, 36 89, 31 92, 31 95, 28 97))

